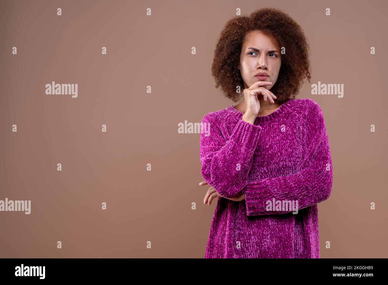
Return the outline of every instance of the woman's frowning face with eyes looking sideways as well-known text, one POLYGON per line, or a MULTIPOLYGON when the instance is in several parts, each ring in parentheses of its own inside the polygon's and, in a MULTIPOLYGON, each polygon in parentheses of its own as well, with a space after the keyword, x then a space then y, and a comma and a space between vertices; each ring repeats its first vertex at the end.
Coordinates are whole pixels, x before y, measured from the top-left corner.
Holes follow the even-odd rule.
POLYGON ((281 64, 280 48, 272 38, 260 31, 247 33, 238 65, 244 80, 244 89, 257 81, 269 81, 272 84, 263 87, 270 90, 279 76, 281 64), (256 77, 256 74, 261 72, 267 73, 268 76, 256 77))

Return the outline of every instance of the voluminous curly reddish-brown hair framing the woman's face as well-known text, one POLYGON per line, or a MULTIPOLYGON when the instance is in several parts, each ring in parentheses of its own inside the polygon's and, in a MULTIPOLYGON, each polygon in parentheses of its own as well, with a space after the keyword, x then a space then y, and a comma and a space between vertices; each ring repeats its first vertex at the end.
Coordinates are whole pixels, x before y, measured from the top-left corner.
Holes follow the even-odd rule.
MULTIPOLYGON (((235 16, 225 24, 214 51, 211 75, 215 87, 221 87, 225 97, 237 102, 244 89, 241 72, 237 68, 241 48, 249 31, 259 30, 270 36, 279 47, 285 47, 279 76, 271 88, 277 97, 275 102, 282 104, 299 93, 305 78, 310 82, 309 45, 306 36, 288 14, 280 9, 265 7, 252 12, 249 16, 235 16)), ((310 82, 311 83, 311 82, 310 82)))

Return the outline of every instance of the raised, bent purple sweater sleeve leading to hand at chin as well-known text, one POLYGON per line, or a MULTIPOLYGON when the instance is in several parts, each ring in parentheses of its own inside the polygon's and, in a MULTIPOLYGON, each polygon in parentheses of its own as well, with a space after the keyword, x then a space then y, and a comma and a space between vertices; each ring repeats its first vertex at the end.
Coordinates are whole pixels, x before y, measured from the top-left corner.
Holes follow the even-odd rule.
POLYGON ((207 114, 202 120, 209 128, 209 133, 201 132, 201 174, 218 194, 232 198, 241 195, 248 183, 253 153, 262 127, 239 120, 230 138, 225 139, 216 122, 215 113, 207 114))

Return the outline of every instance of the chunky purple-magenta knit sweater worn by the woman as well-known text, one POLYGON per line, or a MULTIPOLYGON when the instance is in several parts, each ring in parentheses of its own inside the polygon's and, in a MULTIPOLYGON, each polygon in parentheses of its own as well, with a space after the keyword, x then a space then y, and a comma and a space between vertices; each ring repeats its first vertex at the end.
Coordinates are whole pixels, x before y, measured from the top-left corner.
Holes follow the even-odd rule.
POLYGON ((289 99, 254 124, 242 115, 231 105, 202 120, 201 174, 222 196, 204 257, 319 258, 317 203, 333 184, 322 110, 289 99))

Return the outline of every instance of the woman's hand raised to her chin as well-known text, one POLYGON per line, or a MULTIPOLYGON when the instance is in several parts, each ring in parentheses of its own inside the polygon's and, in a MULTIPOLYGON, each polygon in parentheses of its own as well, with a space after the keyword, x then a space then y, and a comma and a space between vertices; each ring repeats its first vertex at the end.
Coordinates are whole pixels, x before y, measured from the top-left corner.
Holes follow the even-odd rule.
POLYGON ((272 82, 256 81, 249 88, 244 89, 245 100, 245 117, 256 118, 260 111, 260 102, 258 96, 264 96, 264 101, 269 99, 271 104, 274 104, 276 96, 270 90, 265 89, 265 85, 271 85, 272 82))

